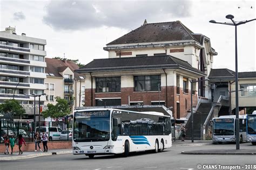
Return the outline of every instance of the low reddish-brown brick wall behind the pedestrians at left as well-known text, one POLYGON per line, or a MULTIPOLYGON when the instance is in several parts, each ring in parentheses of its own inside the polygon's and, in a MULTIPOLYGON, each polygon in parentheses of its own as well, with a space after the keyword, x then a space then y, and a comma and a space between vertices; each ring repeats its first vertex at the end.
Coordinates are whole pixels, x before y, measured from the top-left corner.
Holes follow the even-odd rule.
MULTIPOLYGON (((41 142, 40 147, 44 150, 43 142, 41 142)), ((51 149, 71 149, 72 148, 72 141, 48 141, 48 150, 51 149)), ((5 151, 4 144, 0 144, 0 152, 3 153, 5 151)), ((9 151, 11 151, 11 147, 9 147, 9 151)), ((15 144, 14 152, 18 152, 19 147, 15 144)), ((22 145, 22 151, 35 151, 35 142, 26 142, 26 146, 22 145)), ((37 151, 38 147, 37 147, 37 151)))

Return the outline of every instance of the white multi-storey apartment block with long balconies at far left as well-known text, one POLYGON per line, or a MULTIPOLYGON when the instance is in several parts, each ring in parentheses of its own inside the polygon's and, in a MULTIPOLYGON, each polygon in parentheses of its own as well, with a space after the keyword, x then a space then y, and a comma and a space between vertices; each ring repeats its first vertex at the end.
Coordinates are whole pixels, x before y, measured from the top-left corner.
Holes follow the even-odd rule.
MULTIPOLYGON (((15 98, 26 110, 24 118, 33 118, 34 98, 44 93, 46 40, 16 34, 12 27, 0 31, 0 103, 15 98)), ((41 97, 44 105, 45 97, 41 97)), ((36 98, 38 106, 38 97, 36 98)), ((38 107, 36 114, 38 114, 38 107)))

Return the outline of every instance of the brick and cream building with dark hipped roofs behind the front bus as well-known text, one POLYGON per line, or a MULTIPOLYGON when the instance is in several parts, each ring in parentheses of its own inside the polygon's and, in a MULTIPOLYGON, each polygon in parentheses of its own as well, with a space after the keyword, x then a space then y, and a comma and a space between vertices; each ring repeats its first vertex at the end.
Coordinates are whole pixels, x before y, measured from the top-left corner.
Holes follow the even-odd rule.
POLYGON ((210 38, 180 21, 150 23, 113 40, 76 72, 85 75, 85 106, 165 105, 174 118, 185 118, 198 98, 211 100, 210 74, 217 52, 210 38), (191 80, 199 80, 193 84, 191 80))

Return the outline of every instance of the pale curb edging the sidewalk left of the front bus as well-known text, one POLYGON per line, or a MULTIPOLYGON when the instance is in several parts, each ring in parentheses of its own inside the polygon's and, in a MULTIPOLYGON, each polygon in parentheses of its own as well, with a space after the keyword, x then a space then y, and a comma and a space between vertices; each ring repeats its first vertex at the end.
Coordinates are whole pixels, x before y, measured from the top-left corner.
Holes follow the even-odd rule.
POLYGON ((29 158, 36 158, 36 157, 43 157, 53 154, 68 154, 72 153, 72 151, 59 151, 59 152, 48 152, 48 153, 37 153, 37 154, 29 154, 29 155, 21 155, 21 156, 14 156, 14 157, 3 157, 0 158, 1 160, 18 160, 18 159, 29 159, 29 158))

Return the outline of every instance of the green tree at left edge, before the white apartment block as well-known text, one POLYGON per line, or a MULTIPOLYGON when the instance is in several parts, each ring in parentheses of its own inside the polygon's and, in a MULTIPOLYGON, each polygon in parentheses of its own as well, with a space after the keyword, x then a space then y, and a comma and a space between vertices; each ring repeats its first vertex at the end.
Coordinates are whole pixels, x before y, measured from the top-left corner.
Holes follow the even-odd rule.
POLYGON ((26 113, 25 109, 16 99, 5 100, 3 104, 0 104, 0 112, 2 114, 9 114, 12 118, 15 116, 21 116, 26 113))

